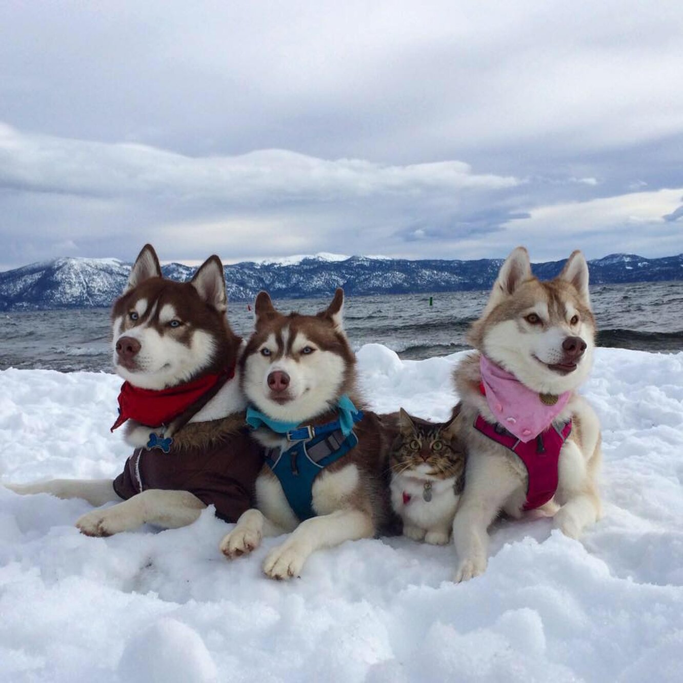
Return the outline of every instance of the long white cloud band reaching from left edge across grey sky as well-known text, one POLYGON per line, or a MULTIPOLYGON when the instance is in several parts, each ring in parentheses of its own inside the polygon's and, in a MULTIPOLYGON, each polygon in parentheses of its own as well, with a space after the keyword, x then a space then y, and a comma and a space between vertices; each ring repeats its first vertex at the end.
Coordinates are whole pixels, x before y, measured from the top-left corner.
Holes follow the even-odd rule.
POLYGON ((327 161, 287 150, 189 157, 130 143, 22 135, 0 129, 0 182, 23 192, 103 197, 150 195, 233 204, 329 201, 393 193, 500 189, 511 177, 476 174, 461 161, 386 165, 327 161))

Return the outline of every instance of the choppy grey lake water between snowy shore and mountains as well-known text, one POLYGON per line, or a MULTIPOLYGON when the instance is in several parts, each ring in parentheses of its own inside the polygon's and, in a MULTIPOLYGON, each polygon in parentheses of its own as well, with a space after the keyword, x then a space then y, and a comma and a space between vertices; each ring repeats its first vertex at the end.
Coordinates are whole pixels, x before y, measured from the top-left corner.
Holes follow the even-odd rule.
MULTIPOLYGON (((357 296, 344 306, 354 349, 378 342, 404 359, 443 356, 469 348, 464 335, 479 316, 486 292, 357 296)), ((683 350, 683 282, 597 285, 591 288, 598 344, 646 351, 683 350)), ((283 311, 313 313, 329 300, 275 301, 283 311)), ((228 306, 240 335, 249 335, 253 313, 243 302, 228 306)), ((0 316, 0 369, 7 367, 111 371, 109 310, 29 311, 0 316)))

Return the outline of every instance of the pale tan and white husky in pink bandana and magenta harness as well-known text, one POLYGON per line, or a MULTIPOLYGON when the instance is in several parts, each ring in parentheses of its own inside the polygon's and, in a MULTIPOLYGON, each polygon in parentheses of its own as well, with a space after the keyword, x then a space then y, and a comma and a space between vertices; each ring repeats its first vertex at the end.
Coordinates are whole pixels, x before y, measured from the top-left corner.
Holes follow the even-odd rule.
POLYGON ((600 425, 578 393, 593 362, 595 321, 579 251, 553 280, 515 249, 469 333, 477 352, 455 370, 468 451, 453 524, 456 581, 482 574, 490 523, 540 507, 572 538, 600 516, 600 425))

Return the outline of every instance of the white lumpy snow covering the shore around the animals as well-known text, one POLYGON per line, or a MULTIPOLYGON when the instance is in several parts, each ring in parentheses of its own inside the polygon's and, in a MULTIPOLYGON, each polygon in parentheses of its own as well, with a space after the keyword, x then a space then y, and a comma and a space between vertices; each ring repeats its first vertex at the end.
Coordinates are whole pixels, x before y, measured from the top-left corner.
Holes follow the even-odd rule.
MULTIPOLYGON (((461 354, 359 351, 367 397, 445 419, 461 354)), ((112 477, 120 380, 0 372, 0 475, 112 477)), ((90 509, 0 488, 0 680, 640 683, 683 668, 683 353, 599 349, 585 395, 602 421, 605 514, 581 542, 529 515, 492 529, 484 576, 449 581, 452 546, 362 540, 265 579, 278 543, 232 563, 211 510, 190 527, 106 539, 90 509)))

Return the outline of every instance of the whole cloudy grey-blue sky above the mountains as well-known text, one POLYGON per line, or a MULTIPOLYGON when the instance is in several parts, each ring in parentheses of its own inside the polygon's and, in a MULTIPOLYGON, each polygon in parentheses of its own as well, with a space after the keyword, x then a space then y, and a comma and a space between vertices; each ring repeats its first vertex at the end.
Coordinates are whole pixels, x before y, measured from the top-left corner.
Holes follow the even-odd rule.
POLYGON ((0 270, 683 251, 680 0, 3 0, 0 270))

